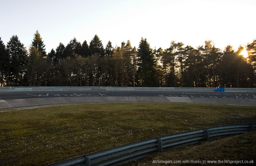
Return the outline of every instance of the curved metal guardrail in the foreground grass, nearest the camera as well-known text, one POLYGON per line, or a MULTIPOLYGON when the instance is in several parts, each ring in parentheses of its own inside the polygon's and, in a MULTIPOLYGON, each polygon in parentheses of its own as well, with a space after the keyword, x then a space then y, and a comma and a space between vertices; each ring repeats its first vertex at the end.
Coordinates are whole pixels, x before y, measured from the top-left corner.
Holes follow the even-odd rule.
POLYGON ((51 164, 48 166, 112 166, 125 164, 140 158, 146 154, 163 149, 184 144, 197 143, 199 140, 209 140, 209 138, 242 134, 254 131, 256 124, 235 125, 214 128, 204 128, 187 131, 147 140, 141 140, 99 152, 89 153, 69 160, 51 164))

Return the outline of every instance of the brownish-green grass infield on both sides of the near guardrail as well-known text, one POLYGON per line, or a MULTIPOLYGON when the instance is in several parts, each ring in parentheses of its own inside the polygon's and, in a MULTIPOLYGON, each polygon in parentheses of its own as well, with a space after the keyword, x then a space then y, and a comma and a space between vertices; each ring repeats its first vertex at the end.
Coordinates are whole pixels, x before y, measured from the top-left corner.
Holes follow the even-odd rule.
MULTIPOLYGON (((44 166, 156 136, 249 123, 256 123, 256 106, 87 103, 0 112, 0 166, 44 166)), ((152 164, 157 159, 256 162, 255 138, 256 133, 251 132, 202 141, 128 165, 157 165, 152 164)))

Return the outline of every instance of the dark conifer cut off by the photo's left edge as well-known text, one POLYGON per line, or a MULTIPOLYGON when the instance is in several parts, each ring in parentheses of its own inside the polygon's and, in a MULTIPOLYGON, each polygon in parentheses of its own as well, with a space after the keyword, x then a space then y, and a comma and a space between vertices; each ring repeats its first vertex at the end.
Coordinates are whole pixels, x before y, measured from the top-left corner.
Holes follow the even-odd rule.
POLYGON ((8 67, 8 53, 6 51, 5 45, 0 38, 0 84, 1 87, 5 84, 4 77, 7 76, 7 68, 8 67))

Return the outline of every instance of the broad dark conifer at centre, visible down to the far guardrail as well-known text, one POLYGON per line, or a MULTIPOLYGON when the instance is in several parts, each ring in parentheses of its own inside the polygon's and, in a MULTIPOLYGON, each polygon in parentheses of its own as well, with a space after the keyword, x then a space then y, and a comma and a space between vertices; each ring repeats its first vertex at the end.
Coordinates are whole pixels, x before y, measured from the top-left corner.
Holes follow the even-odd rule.
POLYGON ((143 87, 156 87, 156 59, 147 39, 141 39, 138 49, 139 83, 143 87))

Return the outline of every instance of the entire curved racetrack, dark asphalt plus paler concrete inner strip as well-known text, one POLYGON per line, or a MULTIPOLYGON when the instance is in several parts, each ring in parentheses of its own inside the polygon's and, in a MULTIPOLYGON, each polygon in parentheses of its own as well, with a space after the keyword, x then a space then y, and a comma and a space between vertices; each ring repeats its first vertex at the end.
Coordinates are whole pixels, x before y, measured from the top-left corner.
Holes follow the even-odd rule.
POLYGON ((81 102, 186 102, 256 105, 256 92, 62 90, 0 92, 0 109, 81 102))

